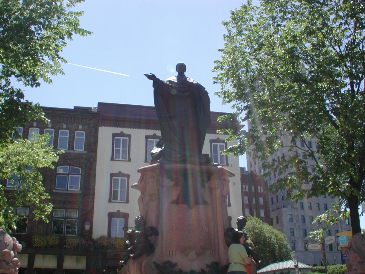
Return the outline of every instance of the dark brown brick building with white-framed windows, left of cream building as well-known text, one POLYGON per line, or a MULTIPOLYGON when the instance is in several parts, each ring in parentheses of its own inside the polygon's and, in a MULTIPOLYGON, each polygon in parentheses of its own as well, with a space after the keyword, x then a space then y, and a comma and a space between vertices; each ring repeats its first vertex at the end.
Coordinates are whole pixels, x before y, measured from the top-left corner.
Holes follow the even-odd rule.
MULTIPOLYGON (((24 245, 19 254, 22 266, 19 272, 83 273, 83 269, 91 267, 90 253, 63 247, 68 244, 66 238, 85 238, 84 224, 93 220, 99 113, 91 107, 42 109, 50 123, 27 122, 17 128, 19 134, 23 138, 31 138, 31 133, 49 133, 49 144, 54 150, 64 150, 65 153, 59 155, 54 169, 41 170, 45 191, 51 196, 46 202, 54 206, 48 216, 49 222, 34 221, 32 207, 18 208, 18 213, 24 214, 13 234, 24 245), (39 235, 39 239, 44 240, 51 234, 59 235, 57 245, 52 248, 34 247, 32 236, 39 235)), ((7 193, 16 187, 9 182, 4 184, 7 193)), ((92 231, 89 233, 92 234, 92 231)), ((46 247, 51 244, 49 239, 46 247)))

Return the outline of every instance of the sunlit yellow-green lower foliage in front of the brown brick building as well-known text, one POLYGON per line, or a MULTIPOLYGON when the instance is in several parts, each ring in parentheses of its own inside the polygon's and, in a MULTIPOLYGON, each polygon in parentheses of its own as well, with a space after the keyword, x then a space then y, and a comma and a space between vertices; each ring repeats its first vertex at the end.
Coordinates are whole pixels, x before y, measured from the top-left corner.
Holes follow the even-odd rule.
POLYGON ((16 228, 19 218, 16 208, 22 206, 32 206, 35 220, 47 221, 52 204, 47 202, 50 196, 43 187, 39 168, 53 168, 52 163, 58 160, 59 153, 53 152, 53 146, 47 146, 48 139, 46 134, 32 141, 8 140, 0 147, 0 180, 11 182, 14 187, 5 195, 5 186, 0 184, 0 227, 4 230, 16 228))

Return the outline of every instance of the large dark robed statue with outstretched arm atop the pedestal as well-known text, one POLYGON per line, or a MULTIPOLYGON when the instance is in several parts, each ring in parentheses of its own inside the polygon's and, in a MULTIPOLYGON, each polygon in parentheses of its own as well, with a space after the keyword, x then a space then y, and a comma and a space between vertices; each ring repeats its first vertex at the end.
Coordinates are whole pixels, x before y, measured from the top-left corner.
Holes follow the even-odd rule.
POLYGON ((202 155, 205 134, 210 125, 210 99, 205 88, 185 76, 186 66, 176 65, 177 76, 153 81, 154 103, 160 121, 161 140, 153 149, 152 161, 173 163, 210 163, 202 155))

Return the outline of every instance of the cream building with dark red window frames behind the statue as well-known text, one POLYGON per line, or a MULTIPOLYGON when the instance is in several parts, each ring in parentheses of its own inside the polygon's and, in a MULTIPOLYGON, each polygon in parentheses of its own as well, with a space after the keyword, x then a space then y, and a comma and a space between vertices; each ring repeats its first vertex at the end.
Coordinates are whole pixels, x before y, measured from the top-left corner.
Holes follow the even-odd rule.
MULTIPOLYGON (((149 165, 150 150, 160 138, 154 107, 99 103, 100 125, 97 143, 96 183, 93 235, 124 237, 134 227, 139 215, 138 190, 131 186, 138 182, 138 168, 149 165)), ((242 215, 240 168, 238 157, 221 156, 214 151, 233 145, 225 142, 228 136, 217 134, 217 129, 233 123, 216 122, 223 113, 212 112, 212 123, 207 130, 203 153, 225 166, 235 176, 230 178, 227 197, 228 216, 233 220, 242 215)))

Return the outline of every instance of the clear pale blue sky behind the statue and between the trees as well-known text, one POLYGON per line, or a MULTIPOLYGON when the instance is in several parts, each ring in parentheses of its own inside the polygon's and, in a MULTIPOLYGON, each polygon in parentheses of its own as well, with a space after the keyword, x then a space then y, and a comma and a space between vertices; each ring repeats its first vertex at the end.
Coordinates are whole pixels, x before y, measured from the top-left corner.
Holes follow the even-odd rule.
MULTIPOLYGON (((246 2, 245 0, 243 0, 246 2)), ((84 11, 81 27, 88 37, 74 35, 62 56, 73 64, 124 73, 130 77, 63 64, 66 75, 53 76, 53 84, 26 88, 26 99, 41 106, 73 108, 97 102, 153 106, 151 81, 176 75, 183 61, 186 75, 209 92, 212 111, 231 112, 214 95, 212 68, 223 47, 223 20, 243 2, 237 0, 87 0, 75 10, 84 11)), ((258 5, 258 0, 253 0, 258 5)), ((246 156, 239 157, 247 167, 246 156)), ((361 210, 360 210, 361 211, 361 210)), ((365 228, 365 217, 360 217, 365 228)))

